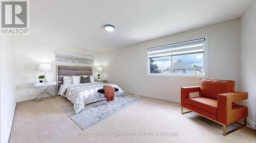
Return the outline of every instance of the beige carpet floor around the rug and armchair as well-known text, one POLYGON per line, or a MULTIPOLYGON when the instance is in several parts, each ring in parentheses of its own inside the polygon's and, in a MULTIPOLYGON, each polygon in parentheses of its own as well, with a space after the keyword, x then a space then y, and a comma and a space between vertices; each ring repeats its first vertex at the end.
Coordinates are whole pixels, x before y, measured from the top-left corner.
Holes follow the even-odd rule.
POLYGON ((68 104, 60 96, 18 102, 9 142, 256 142, 249 127, 223 136, 221 125, 193 112, 181 115, 180 104, 144 97, 83 131, 59 108, 68 104), (161 132, 179 136, 150 136, 161 132))

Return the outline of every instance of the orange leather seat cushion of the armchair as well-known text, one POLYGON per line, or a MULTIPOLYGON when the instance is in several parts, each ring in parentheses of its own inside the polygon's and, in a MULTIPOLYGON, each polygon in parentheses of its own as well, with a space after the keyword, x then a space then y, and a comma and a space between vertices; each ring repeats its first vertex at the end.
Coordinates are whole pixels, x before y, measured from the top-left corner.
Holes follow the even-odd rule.
POLYGON ((200 108, 217 115, 217 100, 206 97, 185 98, 185 104, 200 108))

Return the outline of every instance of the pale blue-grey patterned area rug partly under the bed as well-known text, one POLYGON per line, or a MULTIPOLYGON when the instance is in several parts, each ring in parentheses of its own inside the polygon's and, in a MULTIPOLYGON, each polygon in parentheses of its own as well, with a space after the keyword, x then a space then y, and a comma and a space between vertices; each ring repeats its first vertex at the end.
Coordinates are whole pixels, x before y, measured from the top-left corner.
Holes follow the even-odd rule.
POLYGON ((108 118, 113 113, 120 109, 123 109, 141 98, 135 96, 117 96, 118 101, 111 101, 109 103, 106 100, 94 102, 84 106, 84 109, 75 114, 72 105, 60 107, 79 127, 83 130, 88 129, 94 124, 108 118))

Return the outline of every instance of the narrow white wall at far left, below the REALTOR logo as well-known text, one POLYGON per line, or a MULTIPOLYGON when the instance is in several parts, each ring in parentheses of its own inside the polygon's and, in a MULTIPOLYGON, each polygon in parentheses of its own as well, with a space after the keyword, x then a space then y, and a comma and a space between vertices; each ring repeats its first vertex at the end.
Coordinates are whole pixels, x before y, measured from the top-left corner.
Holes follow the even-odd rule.
POLYGON ((1 142, 7 143, 16 106, 14 37, 0 36, 0 47, 0 136, 1 142))

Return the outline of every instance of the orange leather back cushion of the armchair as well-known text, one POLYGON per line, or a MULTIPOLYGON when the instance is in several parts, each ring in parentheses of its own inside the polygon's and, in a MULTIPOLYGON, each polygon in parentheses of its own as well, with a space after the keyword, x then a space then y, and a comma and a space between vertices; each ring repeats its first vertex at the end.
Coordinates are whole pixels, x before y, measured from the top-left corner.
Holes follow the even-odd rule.
POLYGON ((200 79, 199 96, 217 100, 218 94, 234 92, 234 85, 233 80, 200 79))

